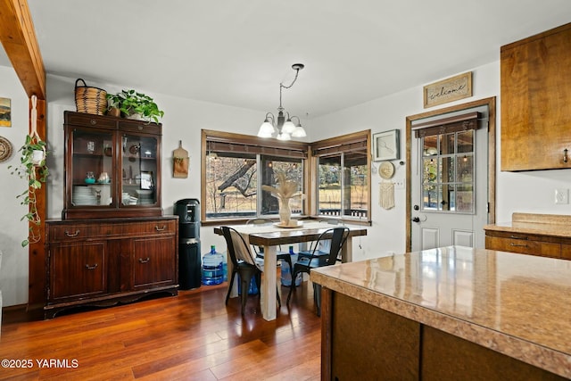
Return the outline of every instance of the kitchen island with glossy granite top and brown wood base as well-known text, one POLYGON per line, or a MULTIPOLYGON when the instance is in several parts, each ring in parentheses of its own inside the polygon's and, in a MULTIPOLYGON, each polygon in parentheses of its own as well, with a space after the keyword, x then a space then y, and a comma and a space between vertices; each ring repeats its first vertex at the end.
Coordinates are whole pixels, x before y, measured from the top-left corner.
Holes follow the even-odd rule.
POLYGON ((311 280, 322 379, 571 377, 571 261, 451 246, 311 280))

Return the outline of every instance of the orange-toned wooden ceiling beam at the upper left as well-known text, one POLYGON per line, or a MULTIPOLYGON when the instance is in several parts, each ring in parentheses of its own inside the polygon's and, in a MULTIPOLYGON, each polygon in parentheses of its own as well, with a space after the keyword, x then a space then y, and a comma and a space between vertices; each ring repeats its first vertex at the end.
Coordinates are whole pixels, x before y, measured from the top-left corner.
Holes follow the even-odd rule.
POLYGON ((0 41, 28 97, 46 100, 46 70, 26 0, 0 0, 0 41))

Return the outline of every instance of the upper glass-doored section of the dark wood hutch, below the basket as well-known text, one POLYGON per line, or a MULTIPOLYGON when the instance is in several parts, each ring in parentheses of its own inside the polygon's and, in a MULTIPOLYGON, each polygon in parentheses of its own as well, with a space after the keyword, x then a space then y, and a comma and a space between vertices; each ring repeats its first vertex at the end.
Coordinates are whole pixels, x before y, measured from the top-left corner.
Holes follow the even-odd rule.
POLYGON ((63 219, 157 217, 161 124, 65 112, 63 219))

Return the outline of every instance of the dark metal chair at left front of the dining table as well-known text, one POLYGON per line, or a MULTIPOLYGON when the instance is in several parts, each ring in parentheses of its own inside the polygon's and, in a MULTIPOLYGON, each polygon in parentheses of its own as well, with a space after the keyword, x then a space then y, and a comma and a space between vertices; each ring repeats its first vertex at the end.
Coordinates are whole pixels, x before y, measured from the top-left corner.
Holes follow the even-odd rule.
MULTIPOLYGON (((232 286, 234 286, 234 278, 237 273, 240 276, 240 286, 242 288, 242 315, 244 315, 246 300, 248 298, 248 288, 252 281, 252 277, 254 277, 257 283, 258 290, 261 290, 263 261, 256 259, 256 257, 252 255, 250 245, 246 244, 244 237, 235 228, 221 227, 221 229, 224 239, 226 240, 230 261, 232 261, 232 275, 230 277, 230 282, 228 283, 226 304, 228 305, 228 299, 230 298, 230 292, 232 291, 232 286)), ((276 294, 277 304, 281 307, 282 303, 279 298, 277 288, 276 294)))

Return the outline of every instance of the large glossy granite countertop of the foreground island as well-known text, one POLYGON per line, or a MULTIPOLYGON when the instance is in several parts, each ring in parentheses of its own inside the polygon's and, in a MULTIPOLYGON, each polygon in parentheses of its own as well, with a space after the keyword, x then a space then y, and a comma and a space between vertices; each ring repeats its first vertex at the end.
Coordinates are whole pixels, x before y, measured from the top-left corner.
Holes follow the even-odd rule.
POLYGON ((451 246, 327 266, 311 280, 571 377, 571 261, 451 246))

